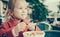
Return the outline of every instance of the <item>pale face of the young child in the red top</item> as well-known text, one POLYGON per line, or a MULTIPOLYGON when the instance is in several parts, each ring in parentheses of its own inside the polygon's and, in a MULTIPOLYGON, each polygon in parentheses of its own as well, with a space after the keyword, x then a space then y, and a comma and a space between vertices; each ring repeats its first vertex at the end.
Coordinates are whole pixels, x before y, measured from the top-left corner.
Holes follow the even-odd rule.
POLYGON ((25 19, 28 14, 29 7, 25 1, 16 1, 13 11, 13 16, 18 19, 25 19))

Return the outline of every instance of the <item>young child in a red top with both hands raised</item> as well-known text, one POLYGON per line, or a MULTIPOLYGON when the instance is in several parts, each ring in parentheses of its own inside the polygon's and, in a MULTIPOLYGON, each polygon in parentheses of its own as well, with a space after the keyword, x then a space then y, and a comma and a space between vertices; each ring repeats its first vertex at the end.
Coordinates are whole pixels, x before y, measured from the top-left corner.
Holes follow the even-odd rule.
MULTIPOLYGON (((2 37, 2 35, 6 37, 15 37, 12 30, 16 29, 17 26, 21 27, 19 23, 23 23, 25 26, 22 27, 23 29, 17 31, 18 37, 23 37, 23 32, 32 30, 29 26, 30 22, 25 20, 29 10, 25 0, 9 0, 9 10, 10 12, 8 13, 11 18, 0 26, 0 37, 2 37)), ((33 30, 40 31, 37 26, 35 26, 35 29, 33 30)))

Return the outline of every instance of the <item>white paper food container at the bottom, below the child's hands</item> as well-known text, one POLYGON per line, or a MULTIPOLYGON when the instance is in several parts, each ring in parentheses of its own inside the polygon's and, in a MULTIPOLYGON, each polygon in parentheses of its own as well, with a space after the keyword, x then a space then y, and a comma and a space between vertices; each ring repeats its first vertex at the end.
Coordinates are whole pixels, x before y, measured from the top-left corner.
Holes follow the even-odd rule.
POLYGON ((23 33, 24 37, 44 37, 45 32, 43 31, 28 31, 23 33))

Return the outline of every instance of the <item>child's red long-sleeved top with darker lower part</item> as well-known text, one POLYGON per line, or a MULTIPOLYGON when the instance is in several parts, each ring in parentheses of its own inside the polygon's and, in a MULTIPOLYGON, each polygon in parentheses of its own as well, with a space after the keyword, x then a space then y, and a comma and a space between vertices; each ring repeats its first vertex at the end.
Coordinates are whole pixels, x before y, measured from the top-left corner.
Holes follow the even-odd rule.
MULTIPOLYGON (((27 22, 26 20, 24 20, 23 22, 25 22, 26 24, 28 24, 29 22, 27 22)), ((6 37, 14 37, 12 34, 12 29, 14 26, 16 26, 19 22, 16 19, 11 18, 8 22, 2 23, 2 25, 0 26, 0 37, 2 37, 2 34, 4 34, 6 37)), ((19 36, 18 37, 23 37, 22 33, 28 31, 28 28, 25 27, 24 31, 20 31, 19 32, 19 36)), ((36 26, 36 31, 40 31, 40 29, 36 26)))

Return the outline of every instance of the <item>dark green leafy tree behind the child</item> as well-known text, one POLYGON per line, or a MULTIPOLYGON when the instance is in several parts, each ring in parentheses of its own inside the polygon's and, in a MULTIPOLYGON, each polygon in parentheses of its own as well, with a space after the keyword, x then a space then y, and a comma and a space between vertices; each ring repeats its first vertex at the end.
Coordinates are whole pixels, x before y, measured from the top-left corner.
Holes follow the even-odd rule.
POLYGON ((45 7, 43 3, 41 3, 39 0, 26 0, 31 8, 32 8, 32 14, 31 18, 33 21, 45 21, 46 15, 48 15, 48 9, 45 7))

